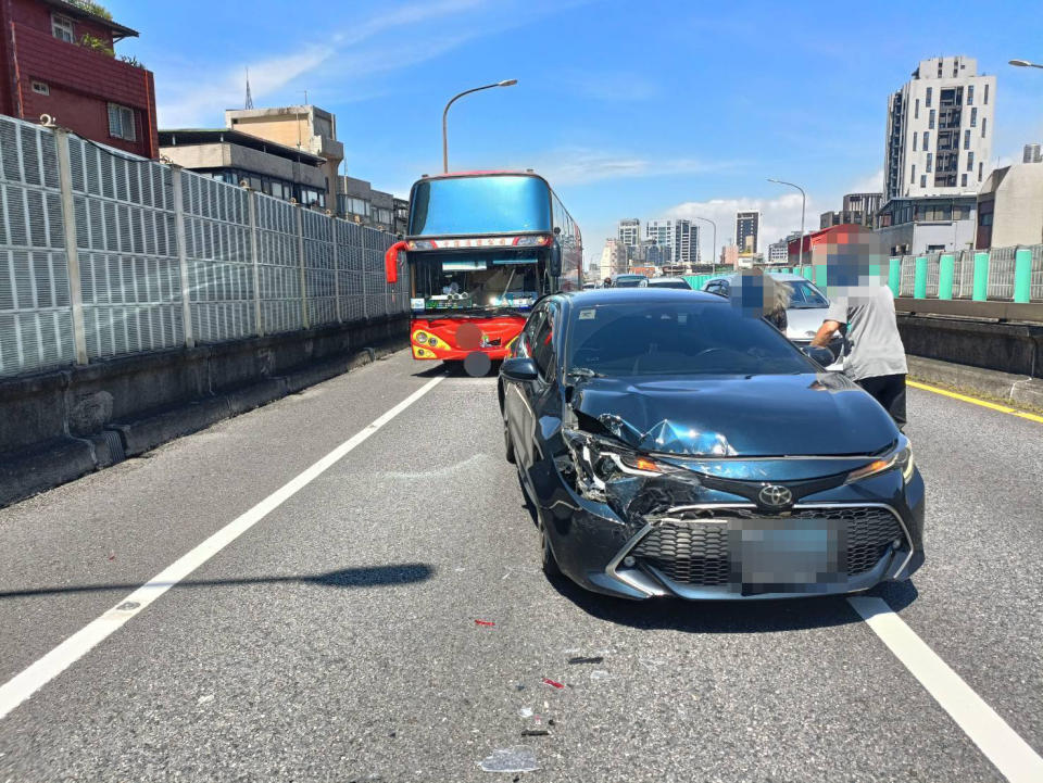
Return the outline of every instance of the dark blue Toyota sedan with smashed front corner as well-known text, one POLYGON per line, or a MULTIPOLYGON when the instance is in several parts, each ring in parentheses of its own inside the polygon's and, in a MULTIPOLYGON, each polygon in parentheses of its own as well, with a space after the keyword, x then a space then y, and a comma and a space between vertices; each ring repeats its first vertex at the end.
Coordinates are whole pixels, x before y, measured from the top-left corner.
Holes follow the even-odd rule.
POLYGON ((549 296, 499 396, 549 576, 628 598, 755 599, 863 591, 923 561, 906 437, 719 296, 549 296))

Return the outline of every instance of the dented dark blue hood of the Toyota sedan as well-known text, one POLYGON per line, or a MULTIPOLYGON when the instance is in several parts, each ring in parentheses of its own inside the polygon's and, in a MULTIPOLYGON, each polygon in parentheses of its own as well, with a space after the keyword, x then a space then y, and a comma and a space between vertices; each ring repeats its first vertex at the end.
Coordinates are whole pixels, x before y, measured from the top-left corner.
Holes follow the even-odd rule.
POLYGON ((677 455, 862 455, 897 438, 869 394, 828 372, 592 378, 571 406, 636 449, 677 455))

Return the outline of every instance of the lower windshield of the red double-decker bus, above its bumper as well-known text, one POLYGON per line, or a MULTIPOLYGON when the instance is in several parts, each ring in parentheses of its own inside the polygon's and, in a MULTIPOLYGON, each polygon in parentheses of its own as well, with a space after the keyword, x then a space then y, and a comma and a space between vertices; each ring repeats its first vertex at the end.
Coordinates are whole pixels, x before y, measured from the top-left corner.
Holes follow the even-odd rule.
POLYGON ((539 257, 431 253, 413 266, 413 311, 528 310, 543 292, 539 257))

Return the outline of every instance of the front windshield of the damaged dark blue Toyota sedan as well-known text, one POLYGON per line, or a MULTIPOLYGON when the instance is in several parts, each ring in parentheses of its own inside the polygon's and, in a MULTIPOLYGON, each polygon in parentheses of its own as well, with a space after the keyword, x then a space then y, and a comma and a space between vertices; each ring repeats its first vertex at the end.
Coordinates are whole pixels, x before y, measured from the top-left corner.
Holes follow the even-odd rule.
POLYGON ((566 353, 569 370, 604 376, 814 371, 774 327, 719 301, 579 305, 566 353))

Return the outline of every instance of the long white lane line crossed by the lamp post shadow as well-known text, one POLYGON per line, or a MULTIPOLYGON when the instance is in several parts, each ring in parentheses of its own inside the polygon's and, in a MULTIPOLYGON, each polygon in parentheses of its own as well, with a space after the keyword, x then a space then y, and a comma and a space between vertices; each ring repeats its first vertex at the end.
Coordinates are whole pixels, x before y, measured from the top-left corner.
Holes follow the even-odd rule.
POLYGON ((116 606, 89 622, 42 658, 15 674, 11 680, 0 686, 0 720, 43 687, 43 685, 75 664, 95 646, 103 642, 111 633, 122 628, 127 620, 144 611, 149 605, 163 595, 163 593, 206 563, 206 560, 221 552, 225 546, 238 539, 264 519, 265 516, 318 478, 351 450, 427 394, 444 378, 445 376, 437 376, 429 380, 405 400, 377 418, 373 424, 334 449, 334 451, 304 470, 304 472, 290 479, 253 508, 236 517, 196 548, 160 571, 147 583, 142 584, 116 604, 116 606))

